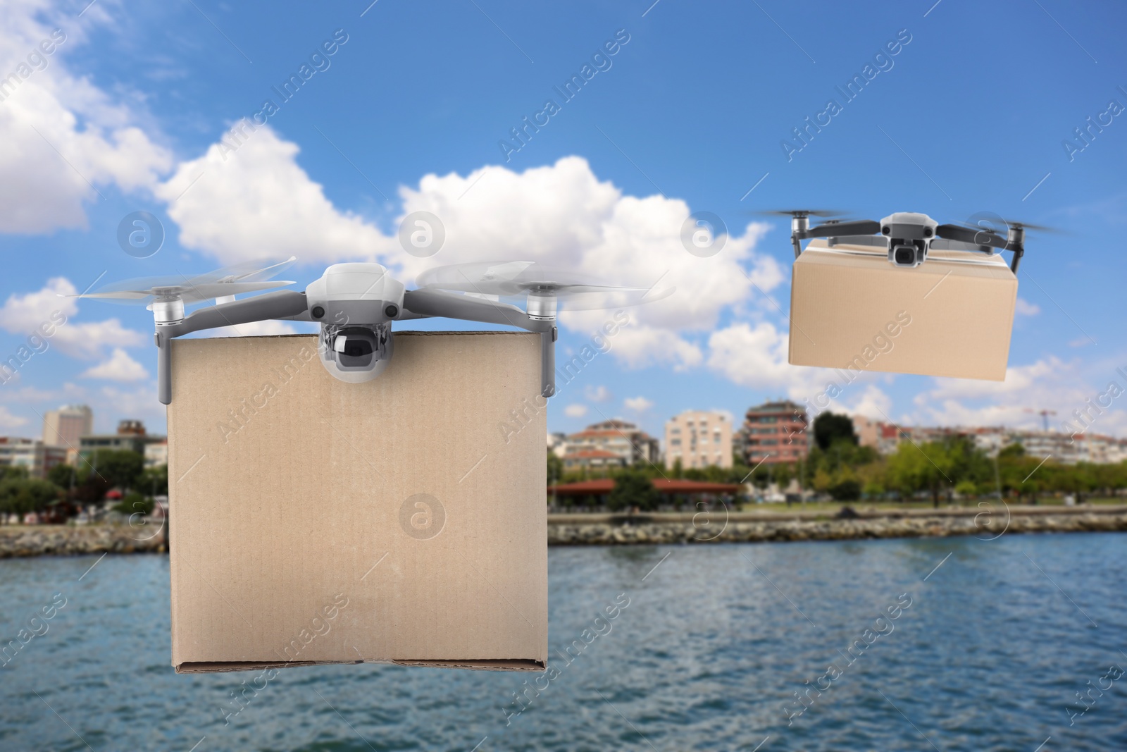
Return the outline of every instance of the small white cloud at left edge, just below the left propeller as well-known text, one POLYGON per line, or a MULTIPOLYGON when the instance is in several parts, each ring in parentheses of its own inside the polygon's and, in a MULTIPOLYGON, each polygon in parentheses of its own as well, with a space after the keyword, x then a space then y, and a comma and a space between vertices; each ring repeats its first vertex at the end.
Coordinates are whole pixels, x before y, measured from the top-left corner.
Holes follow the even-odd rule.
POLYGON ((11 294, 0 308, 0 328, 25 337, 53 330, 45 337, 48 350, 57 347, 66 355, 85 360, 100 357, 107 347, 135 347, 150 340, 148 335, 126 329, 117 319, 74 321, 78 302, 60 295, 77 292, 70 280, 52 277, 36 292, 11 294))

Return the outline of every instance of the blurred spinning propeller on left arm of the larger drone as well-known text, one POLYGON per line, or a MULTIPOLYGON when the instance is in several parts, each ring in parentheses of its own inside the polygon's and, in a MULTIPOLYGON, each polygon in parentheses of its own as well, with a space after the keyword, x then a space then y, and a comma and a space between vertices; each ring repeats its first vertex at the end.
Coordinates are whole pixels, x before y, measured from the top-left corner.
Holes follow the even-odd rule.
POLYGON ((247 262, 195 276, 180 274, 124 280, 107 284, 94 292, 66 297, 98 298, 113 303, 134 306, 151 306, 157 300, 197 303, 204 300, 293 284, 293 282, 270 281, 270 277, 290 268, 296 260, 295 256, 291 256, 282 262, 266 262, 266 266, 263 266, 263 260, 247 262))

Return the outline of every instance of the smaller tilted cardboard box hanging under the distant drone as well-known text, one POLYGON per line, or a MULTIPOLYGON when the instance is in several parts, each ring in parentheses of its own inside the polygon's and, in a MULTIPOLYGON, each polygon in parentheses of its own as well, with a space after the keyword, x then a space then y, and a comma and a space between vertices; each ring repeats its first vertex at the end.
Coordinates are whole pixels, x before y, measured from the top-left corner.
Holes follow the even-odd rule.
POLYGON ((815 240, 795 259, 789 360, 1003 381, 1017 298, 1001 256, 933 250, 903 268, 884 250, 815 240))

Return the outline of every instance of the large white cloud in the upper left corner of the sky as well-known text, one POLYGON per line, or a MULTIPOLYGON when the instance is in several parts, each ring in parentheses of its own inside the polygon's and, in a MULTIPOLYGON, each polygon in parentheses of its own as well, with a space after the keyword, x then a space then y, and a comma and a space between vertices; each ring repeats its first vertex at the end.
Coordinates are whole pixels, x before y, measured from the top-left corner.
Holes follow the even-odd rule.
POLYGON ((135 113, 71 73, 65 59, 85 42, 83 30, 71 19, 60 21, 55 39, 63 41, 53 42, 56 26, 41 19, 54 15, 45 0, 0 3, 0 76, 7 77, 0 89, 7 95, 0 106, 0 232, 86 227, 83 204, 98 197, 94 186, 150 188, 171 166, 170 153, 136 127, 135 113), (53 52, 36 57, 43 41, 53 52), (33 69, 28 55, 45 68, 33 69))

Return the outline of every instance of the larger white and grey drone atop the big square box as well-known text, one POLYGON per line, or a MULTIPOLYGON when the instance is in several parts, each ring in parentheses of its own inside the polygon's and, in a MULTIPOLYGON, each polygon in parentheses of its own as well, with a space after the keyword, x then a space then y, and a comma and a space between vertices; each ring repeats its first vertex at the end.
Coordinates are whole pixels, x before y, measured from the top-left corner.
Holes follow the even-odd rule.
POLYGON ((201 329, 272 319, 321 325, 318 354, 326 370, 341 381, 371 381, 388 366, 392 321, 445 317, 520 327, 540 334, 541 393, 556 393, 556 317, 565 308, 591 310, 648 303, 671 295, 673 287, 591 284, 577 275, 536 262, 479 262, 440 266, 424 272, 418 290, 406 290, 388 269, 374 263, 334 264, 304 292, 277 290, 245 300, 234 295, 281 287, 293 282, 273 277, 293 266, 289 259, 261 266, 249 263, 193 277, 127 280, 77 298, 145 304, 157 325, 157 379, 160 401, 172 400, 171 339, 201 329), (512 299, 523 306, 502 302, 512 299), (216 304, 185 316, 185 304, 216 304))

